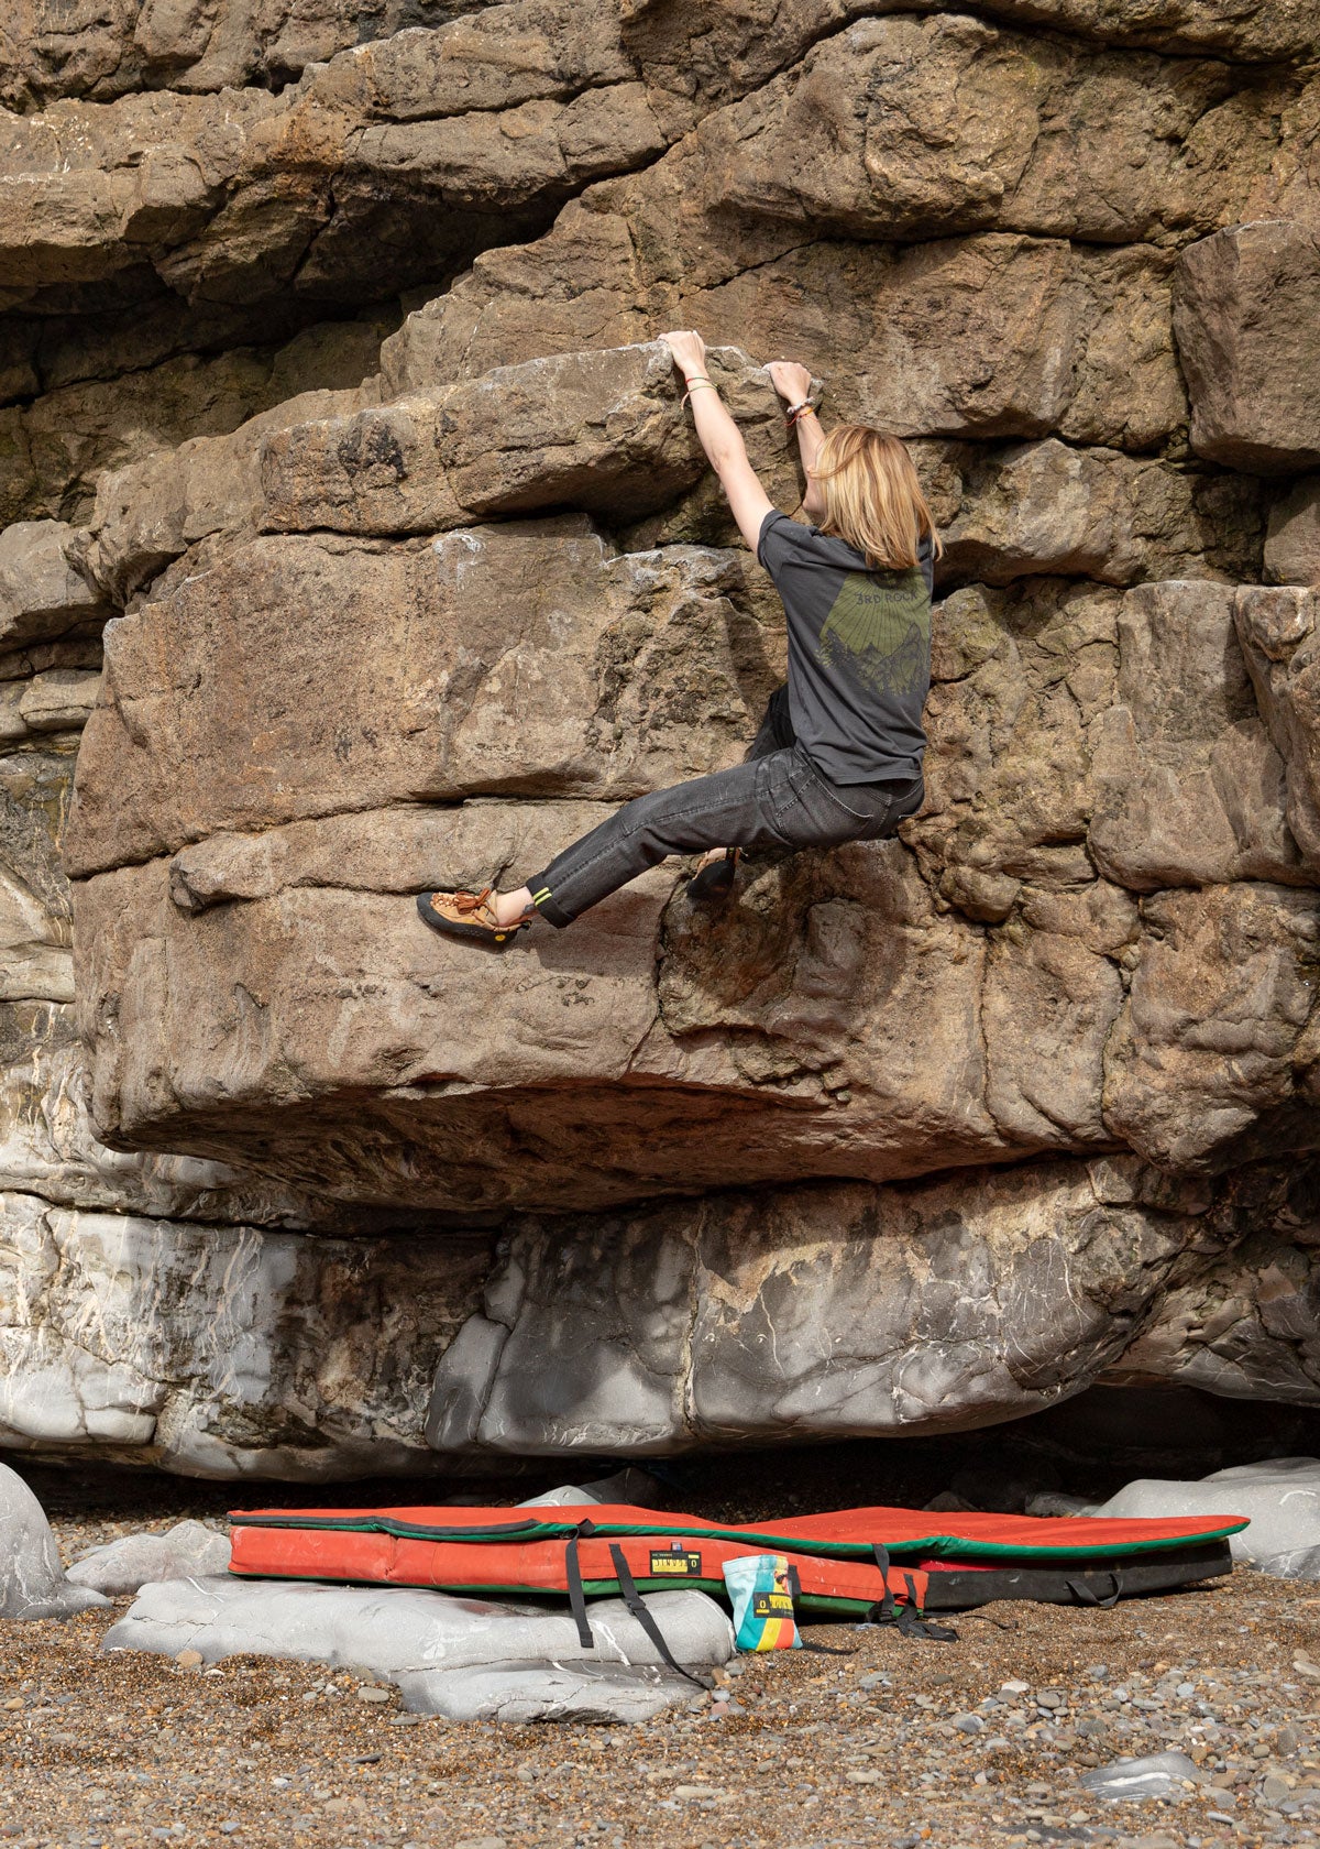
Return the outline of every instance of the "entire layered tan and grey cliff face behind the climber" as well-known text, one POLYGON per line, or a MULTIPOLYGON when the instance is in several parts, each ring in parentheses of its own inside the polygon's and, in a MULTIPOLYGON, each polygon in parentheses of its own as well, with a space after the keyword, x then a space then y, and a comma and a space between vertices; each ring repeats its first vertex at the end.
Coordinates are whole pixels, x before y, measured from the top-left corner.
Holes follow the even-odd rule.
POLYGON ((1313 9, 20 15, 0 1442, 1320 1403, 1313 9), (788 510, 762 361, 911 440, 928 799, 479 958, 410 895, 736 762, 782 677, 675 324, 788 510))

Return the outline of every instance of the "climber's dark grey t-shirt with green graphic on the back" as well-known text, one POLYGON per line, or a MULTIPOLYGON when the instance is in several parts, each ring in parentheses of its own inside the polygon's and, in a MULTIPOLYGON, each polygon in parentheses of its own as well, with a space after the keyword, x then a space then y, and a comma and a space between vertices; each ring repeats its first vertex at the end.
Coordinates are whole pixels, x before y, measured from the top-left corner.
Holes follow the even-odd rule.
POLYGON ((874 571, 847 540, 771 510, 756 557, 784 601, 789 716, 810 758, 836 784, 919 777, 930 692, 930 540, 923 538, 911 569, 874 571))

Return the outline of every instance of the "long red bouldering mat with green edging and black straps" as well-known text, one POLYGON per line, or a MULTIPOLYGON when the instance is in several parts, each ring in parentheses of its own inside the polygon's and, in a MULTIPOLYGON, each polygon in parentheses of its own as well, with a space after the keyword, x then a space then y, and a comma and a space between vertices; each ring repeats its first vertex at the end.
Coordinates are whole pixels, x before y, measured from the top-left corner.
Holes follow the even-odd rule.
POLYGON ((436 1586, 490 1596, 723 1596, 725 1561, 786 1553, 806 1610, 865 1614, 895 1601, 965 1610, 995 1599, 1106 1605, 1231 1570, 1244 1518, 941 1514, 839 1509, 719 1524, 629 1503, 538 1509, 233 1511, 231 1573, 436 1586))

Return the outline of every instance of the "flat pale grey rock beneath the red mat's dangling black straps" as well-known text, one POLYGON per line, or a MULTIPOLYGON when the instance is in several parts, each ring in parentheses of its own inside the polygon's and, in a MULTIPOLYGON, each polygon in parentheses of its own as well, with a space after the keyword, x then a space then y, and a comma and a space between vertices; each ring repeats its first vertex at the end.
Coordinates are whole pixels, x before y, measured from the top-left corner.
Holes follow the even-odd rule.
MULTIPOLYGON (((654 1592, 645 1603, 680 1664, 721 1664, 734 1655, 732 1625, 704 1592, 654 1592)), ((174 1579, 142 1586, 137 1603, 105 1635, 104 1647, 166 1657, 196 1649, 207 1664, 238 1653, 361 1664, 397 1683, 405 1707, 418 1714, 460 1720, 477 1712, 494 1716, 508 1707, 507 1718, 555 1720, 560 1712, 588 1718, 593 1701, 603 1712, 603 1668, 660 1666, 654 1644, 621 1599, 593 1599, 590 1622, 593 1647, 588 1651, 568 1610, 540 1605, 453 1598, 412 1586, 174 1579), (577 1675, 582 1664, 595 1675, 595 1694, 577 1675), (532 1670, 555 1675, 536 1681, 532 1670), (455 1681, 457 1671, 464 1671, 464 1679, 455 1681)), ((691 1692, 691 1683, 677 1675, 667 1681, 621 1675, 616 1677, 617 1699, 608 1697, 610 1718, 642 1720, 642 1708, 656 1712, 691 1692)))

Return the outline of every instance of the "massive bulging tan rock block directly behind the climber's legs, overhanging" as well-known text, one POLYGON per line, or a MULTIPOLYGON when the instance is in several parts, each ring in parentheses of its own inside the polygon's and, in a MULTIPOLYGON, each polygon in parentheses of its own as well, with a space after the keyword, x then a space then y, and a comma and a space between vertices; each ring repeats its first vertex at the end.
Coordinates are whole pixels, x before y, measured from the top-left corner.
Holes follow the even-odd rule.
MULTIPOLYGON (((516 418, 521 383, 490 388, 516 418)), ((516 455, 519 497, 562 483, 555 451, 516 455)), ((627 475, 582 483, 636 508, 627 475)), ((717 924, 656 869, 473 963, 407 897, 525 878, 603 801, 736 762, 775 606, 736 553, 617 553, 581 516, 233 544, 115 625, 79 754, 100 1130, 457 1213, 1115 1141, 1196 1169, 1309 1146, 1296 753, 1235 608, 1191 582, 959 592, 915 854, 758 860, 717 924), (1207 1054, 1211 1019, 1252 1059, 1207 1054)))

